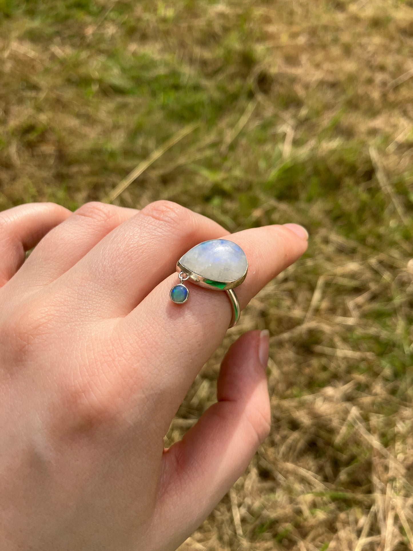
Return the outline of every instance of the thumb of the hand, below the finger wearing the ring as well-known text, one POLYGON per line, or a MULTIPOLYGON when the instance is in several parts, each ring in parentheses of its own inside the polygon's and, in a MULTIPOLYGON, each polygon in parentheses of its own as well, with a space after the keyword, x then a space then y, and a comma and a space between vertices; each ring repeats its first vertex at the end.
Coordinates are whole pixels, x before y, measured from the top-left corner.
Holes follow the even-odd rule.
POLYGON ((268 435, 268 350, 268 331, 250 331, 232 344, 221 365, 218 402, 165 450, 156 525, 170 534, 179 527, 167 549, 202 523, 268 435))

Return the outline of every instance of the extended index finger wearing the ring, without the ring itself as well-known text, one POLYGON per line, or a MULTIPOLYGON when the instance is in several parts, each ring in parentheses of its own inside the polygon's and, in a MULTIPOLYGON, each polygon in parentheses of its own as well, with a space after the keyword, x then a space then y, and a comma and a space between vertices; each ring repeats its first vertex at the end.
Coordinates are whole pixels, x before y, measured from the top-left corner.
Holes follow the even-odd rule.
MULTIPOLYGON (((241 308, 307 249, 306 239, 281 225, 248 229, 225 239, 240 245, 249 263, 246 279, 236 288, 241 308)), ((129 381, 128 394, 133 394, 130 385, 138 368, 140 383, 143 376, 150 388, 155 389, 151 395, 154 407, 169 418, 224 338, 231 320, 226 293, 188 284, 189 300, 176 305, 169 298, 169 291, 176 283, 177 274, 173 274, 157 285, 119 322, 118 333, 123 353, 138 360, 131 362, 129 374, 122 373, 129 381), (145 347, 141 347, 142 342, 145 347)))

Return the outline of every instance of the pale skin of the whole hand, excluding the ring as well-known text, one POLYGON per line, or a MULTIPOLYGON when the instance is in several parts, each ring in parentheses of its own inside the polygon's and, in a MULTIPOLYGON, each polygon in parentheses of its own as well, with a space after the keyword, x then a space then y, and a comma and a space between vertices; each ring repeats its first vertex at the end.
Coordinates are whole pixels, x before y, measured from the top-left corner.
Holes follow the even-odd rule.
POLYGON ((248 258, 241 307, 307 247, 295 224, 229 235, 166 201, 0 213, 2 550, 172 551, 248 466, 270 426, 265 332, 232 345, 218 402, 163 442, 231 319, 225 293, 192 284, 173 304, 175 264, 222 236, 248 258))

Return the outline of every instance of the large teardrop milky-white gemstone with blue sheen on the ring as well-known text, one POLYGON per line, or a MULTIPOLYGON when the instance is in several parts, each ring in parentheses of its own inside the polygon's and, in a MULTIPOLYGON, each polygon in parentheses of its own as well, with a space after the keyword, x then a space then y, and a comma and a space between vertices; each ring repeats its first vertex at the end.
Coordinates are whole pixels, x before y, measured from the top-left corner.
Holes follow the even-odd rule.
POLYGON ((211 239, 195 245, 180 260, 191 272, 211 282, 231 282, 247 271, 248 262, 239 245, 227 239, 211 239))

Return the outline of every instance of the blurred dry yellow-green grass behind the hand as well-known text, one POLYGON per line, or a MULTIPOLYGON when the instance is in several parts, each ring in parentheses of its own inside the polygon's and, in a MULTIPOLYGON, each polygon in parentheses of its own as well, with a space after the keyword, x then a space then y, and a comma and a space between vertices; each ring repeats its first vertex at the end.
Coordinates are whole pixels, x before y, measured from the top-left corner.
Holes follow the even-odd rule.
POLYGON ((172 423, 166 445, 215 401, 229 343, 270 330, 271 435, 180 550, 413 549, 412 0, 0 12, 0 209, 166 198, 309 231, 172 423))

